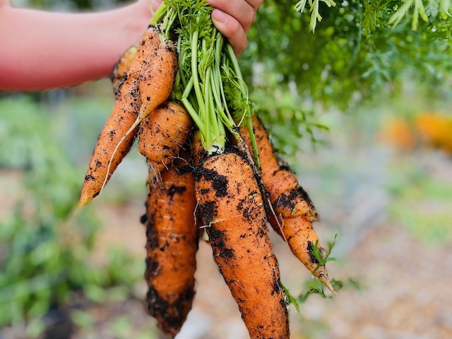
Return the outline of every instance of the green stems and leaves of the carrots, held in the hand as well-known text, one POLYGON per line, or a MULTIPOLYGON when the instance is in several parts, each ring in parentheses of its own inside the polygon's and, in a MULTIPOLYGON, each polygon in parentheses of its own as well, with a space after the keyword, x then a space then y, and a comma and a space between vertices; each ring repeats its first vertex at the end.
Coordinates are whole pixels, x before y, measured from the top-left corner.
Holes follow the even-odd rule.
POLYGON ((177 35, 179 73, 172 96, 191 115, 209 154, 224 151, 227 132, 242 140, 235 121, 245 119, 256 145, 248 91, 232 47, 212 23, 212 10, 205 0, 164 0, 153 19, 177 35))

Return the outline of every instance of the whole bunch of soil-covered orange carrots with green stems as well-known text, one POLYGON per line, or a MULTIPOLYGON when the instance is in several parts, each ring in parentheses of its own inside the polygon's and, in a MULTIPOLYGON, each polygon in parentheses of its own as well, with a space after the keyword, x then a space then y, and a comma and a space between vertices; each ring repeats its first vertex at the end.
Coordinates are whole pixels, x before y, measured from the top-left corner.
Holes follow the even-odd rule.
POLYGON ((267 222, 333 292, 316 210, 251 116, 232 48, 204 0, 165 0, 112 73, 116 102, 85 175, 100 194, 133 141, 146 158, 148 311, 176 335, 194 298, 204 230, 251 338, 289 338, 287 299, 267 222), (320 258, 321 259, 321 258, 320 258))

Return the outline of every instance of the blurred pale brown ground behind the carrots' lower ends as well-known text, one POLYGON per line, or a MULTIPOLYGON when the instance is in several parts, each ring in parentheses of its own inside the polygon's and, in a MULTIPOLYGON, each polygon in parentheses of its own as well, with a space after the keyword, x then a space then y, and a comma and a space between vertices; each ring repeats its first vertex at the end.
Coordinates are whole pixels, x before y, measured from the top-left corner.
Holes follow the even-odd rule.
MULTIPOLYGON (((121 210, 117 217, 136 212, 135 208, 121 210)), ((124 224, 114 227, 124 230, 124 224)), ((127 227, 132 235, 127 241, 131 251, 137 255, 141 251, 143 256, 143 226, 128 222, 127 227)), ((283 283, 297 295, 297 285, 309 279, 309 273, 283 242, 276 238, 275 242, 283 283)), ((345 287, 331 299, 314 295, 300 313, 290 307, 291 338, 452 338, 450 245, 428 245, 401 225, 380 222, 348 248, 340 261, 330 263, 328 270, 331 278, 357 280, 359 290, 345 287)), ((198 252, 196 280, 194 307, 177 339, 249 338, 205 242, 198 252)), ((124 314, 133 314, 133 331, 148 328, 153 319, 145 314, 144 295, 142 284, 136 298, 93 307, 97 326, 91 338, 114 338, 111 320, 124 314)), ((85 335, 81 331, 74 338, 87 338, 85 335)))

